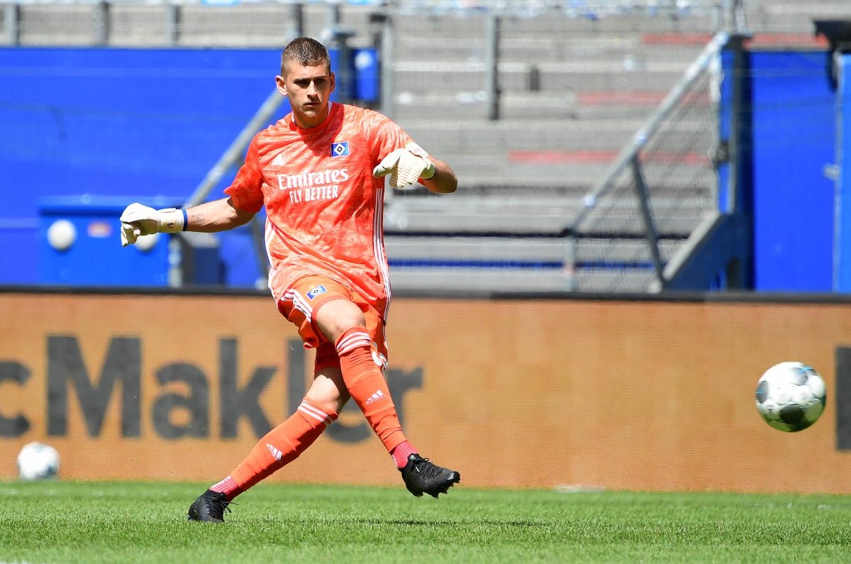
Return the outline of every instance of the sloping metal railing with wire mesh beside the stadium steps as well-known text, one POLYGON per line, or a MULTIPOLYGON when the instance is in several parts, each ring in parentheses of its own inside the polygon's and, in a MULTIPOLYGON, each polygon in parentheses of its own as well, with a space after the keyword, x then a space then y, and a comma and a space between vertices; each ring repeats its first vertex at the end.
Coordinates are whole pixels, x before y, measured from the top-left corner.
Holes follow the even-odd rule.
MULTIPOLYGON (((641 271, 649 268, 656 285, 664 287, 665 258, 660 250, 660 227, 658 218, 654 216, 651 188, 660 193, 660 197, 669 199, 695 198, 694 192, 699 191, 692 225, 682 235, 693 231, 706 215, 717 210, 717 174, 711 155, 717 150, 720 140, 717 106, 712 98, 717 98, 713 91, 720 81, 717 59, 729 37, 728 32, 718 32, 712 37, 700 56, 688 67, 683 79, 623 147, 606 174, 585 194, 579 210, 565 227, 568 234, 565 260, 572 265, 569 268, 571 273, 577 272, 583 260, 595 262, 598 268, 618 266, 618 261, 608 260, 604 253, 580 257, 577 246, 581 239, 593 239, 597 233, 605 233, 608 239, 629 239, 637 235, 645 241, 647 248, 631 257, 632 269, 641 271), (700 113, 700 121, 696 119, 697 112, 700 113), (680 147, 674 147, 673 151, 664 147, 665 135, 672 127, 681 129, 685 120, 696 122, 688 141, 683 143, 681 137, 678 141, 680 147), (699 152, 695 152, 697 148, 699 152), (648 163, 652 165, 660 161, 664 161, 665 165, 652 173, 648 184, 648 163), (683 183, 677 178, 677 167, 688 169, 688 182, 683 183), (665 184, 668 185, 667 190, 662 187, 665 184), (636 219, 640 222, 638 229, 636 219)), ((624 262, 621 257, 620 265, 623 266, 624 262)), ((626 269, 621 268, 622 271, 626 269)), ((609 289, 616 290, 618 285, 614 277, 609 289)), ((581 289, 580 286, 576 279, 570 279, 570 289, 581 289)))

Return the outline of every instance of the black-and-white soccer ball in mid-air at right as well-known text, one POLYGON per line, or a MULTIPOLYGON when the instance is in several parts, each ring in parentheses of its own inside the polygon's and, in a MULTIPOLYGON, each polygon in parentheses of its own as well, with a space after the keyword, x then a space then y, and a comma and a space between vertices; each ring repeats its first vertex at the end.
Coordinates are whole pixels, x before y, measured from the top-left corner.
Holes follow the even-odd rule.
POLYGON ((802 431, 825 411, 826 391, 825 381, 810 366, 781 362, 757 382, 757 411, 774 429, 802 431))

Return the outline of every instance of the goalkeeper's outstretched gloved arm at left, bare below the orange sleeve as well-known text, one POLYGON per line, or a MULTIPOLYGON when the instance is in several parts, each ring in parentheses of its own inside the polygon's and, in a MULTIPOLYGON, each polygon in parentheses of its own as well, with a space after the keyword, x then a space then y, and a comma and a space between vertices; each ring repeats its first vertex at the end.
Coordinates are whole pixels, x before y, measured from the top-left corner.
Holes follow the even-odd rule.
POLYGON ((121 244, 133 245, 142 235, 199 231, 215 233, 248 223, 254 213, 241 210, 230 198, 199 204, 188 210, 154 210, 130 204, 121 215, 121 244))

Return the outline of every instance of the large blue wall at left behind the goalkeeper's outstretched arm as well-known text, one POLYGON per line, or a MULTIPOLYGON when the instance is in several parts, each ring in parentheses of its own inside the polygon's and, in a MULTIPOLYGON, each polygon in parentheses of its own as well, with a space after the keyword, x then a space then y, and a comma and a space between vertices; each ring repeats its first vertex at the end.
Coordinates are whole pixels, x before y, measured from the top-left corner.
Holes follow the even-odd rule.
MULTIPOLYGON (((39 281, 39 199, 186 199, 279 66, 278 49, 0 49, 0 284, 39 281)), ((228 279, 250 285, 258 268, 247 237, 231 239, 228 279)))

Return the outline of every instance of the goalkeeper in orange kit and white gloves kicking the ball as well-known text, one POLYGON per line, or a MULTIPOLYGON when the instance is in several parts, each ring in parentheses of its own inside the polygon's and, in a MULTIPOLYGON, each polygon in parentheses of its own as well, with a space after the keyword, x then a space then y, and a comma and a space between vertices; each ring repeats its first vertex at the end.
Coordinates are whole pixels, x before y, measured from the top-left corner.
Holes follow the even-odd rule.
POLYGON ((289 43, 275 81, 292 112, 254 136, 226 198, 188 210, 130 204, 121 216, 122 243, 132 245, 150 233, 231 229, 265 207, 272 297, 304 346, 317 350, 314 379, 298 409, 191 504, 192 521, 224 521, 233 498, 311 446, 350 397, 414 496, 437 498, 460 481, 408 441, 384 377, 391 301, 384 176, 394 188, 419 183, 452 193, 454 172, 389 118, 329 101, 334 73, 316 40, 289 43))

